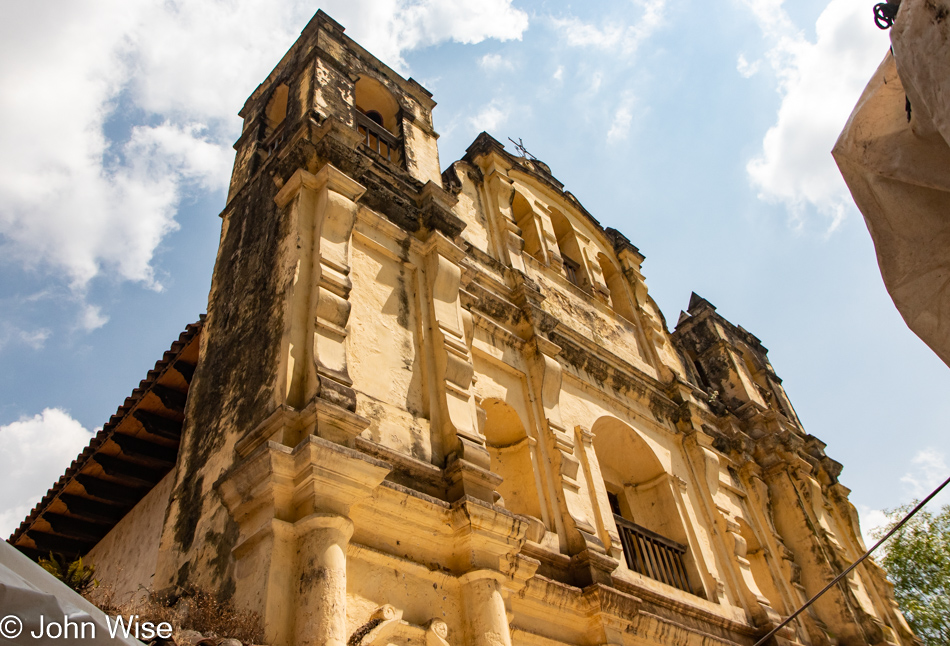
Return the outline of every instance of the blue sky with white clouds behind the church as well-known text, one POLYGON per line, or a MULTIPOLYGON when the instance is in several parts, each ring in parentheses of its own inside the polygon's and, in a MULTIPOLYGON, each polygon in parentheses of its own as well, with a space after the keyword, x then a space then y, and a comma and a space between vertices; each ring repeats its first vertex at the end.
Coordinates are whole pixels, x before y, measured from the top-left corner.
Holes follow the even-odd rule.
POLYGON ((321 7, 434 94, 443 168, 521 138, 756 334, 865 524, 946 477, 950 371, 829 151, 887 51, 854 0, 61 0, 0 25, 0 533, 204 311, 236 113, 321 7))

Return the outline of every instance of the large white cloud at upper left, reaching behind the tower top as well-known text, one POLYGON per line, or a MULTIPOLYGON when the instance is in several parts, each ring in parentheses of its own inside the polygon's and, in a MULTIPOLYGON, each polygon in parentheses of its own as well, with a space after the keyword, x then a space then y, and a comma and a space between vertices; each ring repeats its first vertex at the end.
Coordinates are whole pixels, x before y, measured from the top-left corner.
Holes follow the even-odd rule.
MULTIPOLYGON (((520 38, 528 26, 511 0, 330 0, 324 8, 396 68, 411 49, 520 38)), ((77 295, 86 329, 105 321, 83 296, 97 276, 160 289, 153 257, 179 226, 182 198, 226 186, 236 113, 313 10, 303 0, 8 7, 0 257, 58 276, 77 295), (126 139, 109 139, 122 128, 126 139)))

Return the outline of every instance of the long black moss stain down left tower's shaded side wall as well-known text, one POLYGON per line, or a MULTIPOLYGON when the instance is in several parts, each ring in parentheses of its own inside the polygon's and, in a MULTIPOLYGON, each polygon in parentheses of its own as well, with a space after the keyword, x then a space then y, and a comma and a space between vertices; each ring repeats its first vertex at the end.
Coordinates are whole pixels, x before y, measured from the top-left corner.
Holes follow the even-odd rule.
MULTIPOLYGON (((280 243, 290 235, 290 223, 274 203, 275 192, 269 176, 258 176, 251 190, 236 199, 221 240, 207 341, 189 391, 179 462, 183 468, 174 495, 174 540, 184 553, 195 542, 210 483, 220 475, 207 473, 206 464, 231 429, 247 432, 269 413, 283 302, 292 278, 274 271, 275 260, 281 260, 280 243)), ((179 571, 179 576, 188 574, 188 569, 179 571)))

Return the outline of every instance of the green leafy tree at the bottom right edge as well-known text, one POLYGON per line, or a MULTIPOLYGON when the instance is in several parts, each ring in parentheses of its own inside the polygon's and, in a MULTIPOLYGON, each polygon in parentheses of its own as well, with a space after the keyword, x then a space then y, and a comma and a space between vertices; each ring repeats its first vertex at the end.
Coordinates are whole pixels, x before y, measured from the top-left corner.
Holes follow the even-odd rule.
MULTIPOLYGON (((880 539, 916 502, 885 513, 880 539)), ((911 628, 928 646, 950 644, 950 505, 937 515, 921 510, 887 541, 877 561, 894 583, 894 596, 911 628)))

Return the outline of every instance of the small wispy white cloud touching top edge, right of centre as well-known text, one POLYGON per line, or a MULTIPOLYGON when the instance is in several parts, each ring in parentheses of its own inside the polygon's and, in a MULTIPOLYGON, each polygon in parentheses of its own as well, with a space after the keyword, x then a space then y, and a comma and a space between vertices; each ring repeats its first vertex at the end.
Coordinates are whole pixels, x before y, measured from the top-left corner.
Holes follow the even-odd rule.
POLYGON ((575 16, 552 18, 552 23, 571 47, 618 51, 630 56, 663 25, 666 11, 666 0, 633 0, 632 4, 642 11, 632 25, 609 20, 598 27, 575 16))

